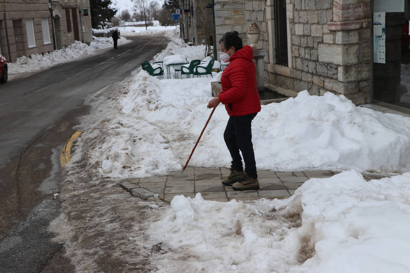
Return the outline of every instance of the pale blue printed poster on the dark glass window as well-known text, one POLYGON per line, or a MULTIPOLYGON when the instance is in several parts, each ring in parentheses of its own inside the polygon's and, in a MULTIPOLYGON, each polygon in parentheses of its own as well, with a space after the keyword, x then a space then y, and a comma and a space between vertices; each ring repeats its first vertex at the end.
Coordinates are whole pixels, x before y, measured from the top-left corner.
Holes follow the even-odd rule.
POLYGON ((373 13, 373 62, 386 63, 386 13, 373 13))

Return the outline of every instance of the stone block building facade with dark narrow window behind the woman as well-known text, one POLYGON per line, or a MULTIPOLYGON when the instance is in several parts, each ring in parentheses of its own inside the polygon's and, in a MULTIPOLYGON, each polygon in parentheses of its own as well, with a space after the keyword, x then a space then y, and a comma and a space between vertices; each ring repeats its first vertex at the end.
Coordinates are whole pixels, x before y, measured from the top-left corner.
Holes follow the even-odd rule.
POLYGON ((343 94, 355 104, 371 102, 370 0, 216 0, 215 4, 217 39, 235 30, 246 39, 248 26, 259 25, 259 44, 268 52, 267 83, 306 89, 312 95, 343 94))

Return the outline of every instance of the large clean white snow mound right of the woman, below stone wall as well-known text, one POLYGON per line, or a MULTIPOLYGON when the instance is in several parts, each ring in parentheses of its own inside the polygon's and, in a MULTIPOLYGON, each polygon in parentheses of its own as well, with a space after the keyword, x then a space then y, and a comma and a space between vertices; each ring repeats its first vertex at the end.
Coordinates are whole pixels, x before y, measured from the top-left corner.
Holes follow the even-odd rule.
POLYGON ((357 107, 344 95, 303 91, 262 106, 254 124, 260 168, 410 169, 410 119, 357 107))

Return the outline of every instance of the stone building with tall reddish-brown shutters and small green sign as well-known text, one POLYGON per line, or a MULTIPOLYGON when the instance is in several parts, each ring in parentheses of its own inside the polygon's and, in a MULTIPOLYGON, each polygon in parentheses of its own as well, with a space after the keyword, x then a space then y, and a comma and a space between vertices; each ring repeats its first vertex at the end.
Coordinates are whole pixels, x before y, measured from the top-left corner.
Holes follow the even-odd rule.
POLYGON ((90 44, 93 40, 91 14, 84 16, 84 9, 90 12, 89 0, 52 0, 56 48, 80 41, 90 44))

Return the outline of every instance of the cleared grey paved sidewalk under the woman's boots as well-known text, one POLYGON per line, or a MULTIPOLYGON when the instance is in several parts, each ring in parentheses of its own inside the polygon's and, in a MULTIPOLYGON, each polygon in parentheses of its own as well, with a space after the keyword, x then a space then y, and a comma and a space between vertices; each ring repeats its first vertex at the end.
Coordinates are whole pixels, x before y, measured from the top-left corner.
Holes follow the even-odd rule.
MULTIPOLYGON (((175 195, 194 197, 196 193, 200 192, 204 199, 226 202, 232 199, 245 201, 259 198, 288 198, 306 180, 331 177, 339 172, 258 170, 260 189, 246 191, 235 191, 232 190, 231 186, 222 185, 222 177, 228 176, 229 173, 229 169, 226 168, 189 167, 185 169, 183 174, 181 171, 175 171, 168 176, 127 178, 126 180, 130 185, 138 185, 159 194, 159 197, 165 201, 171 201, 175 195)), ((366 180, 383 177, 385 176, 364 175, 366 180)), ((127 190, 133 194, 130 187, 127 190)))

